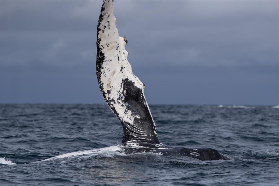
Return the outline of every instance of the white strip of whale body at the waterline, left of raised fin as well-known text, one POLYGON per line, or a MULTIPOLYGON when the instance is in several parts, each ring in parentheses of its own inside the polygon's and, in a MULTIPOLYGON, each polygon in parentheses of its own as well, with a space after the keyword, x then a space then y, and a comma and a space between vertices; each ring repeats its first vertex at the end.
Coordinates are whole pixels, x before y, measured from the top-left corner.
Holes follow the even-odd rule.
MULTIPOLYGON (((115 155, 112 155, 112 153, 109 153, 109 152, 117 152, 120 150, 120 147, 119 145, 116 145, 116 146, 110 146, 110 147, 104 147, 104 148, 98 148, 98 149, 92 149, 92 150, 87 150, 87 151, 78 151, 78 152, 71 152, 71 153, 67 153, 67 154, 62 154, 62 155, 59 155, 59 156, 55 156, 55 157, 51 157, 51 158, 48 158, 48 159, 45 159, 45 160, 42 160, 42 161, 48 161, 48 160, 54 160, 54 159, 61 159, 61 158, 65 158, 65 157, 74 157, 74 156, 81 156, 81 155, 89 155, 89 154, 92 154, 92 155, 100 155, 100 154, 103 154, 103 157, 104 156, 107 156, 107 157, 114 157, 115 155)), ((101 156, 101 155, 100 155, 101 156)), ((101 156, 102 157, 102 156, 101 156)))

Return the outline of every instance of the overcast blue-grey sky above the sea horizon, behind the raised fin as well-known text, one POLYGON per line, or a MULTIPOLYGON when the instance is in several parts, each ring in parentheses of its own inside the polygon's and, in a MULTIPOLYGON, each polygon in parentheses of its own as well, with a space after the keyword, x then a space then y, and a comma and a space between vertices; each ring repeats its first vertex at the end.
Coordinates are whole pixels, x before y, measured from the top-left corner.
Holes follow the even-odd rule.
MULTIPOLYGON (((102 0, 0 0, 0 103, 105 104, 102 0)), ((279 1, 114 0, 149 104, 279 105, 279 1)))

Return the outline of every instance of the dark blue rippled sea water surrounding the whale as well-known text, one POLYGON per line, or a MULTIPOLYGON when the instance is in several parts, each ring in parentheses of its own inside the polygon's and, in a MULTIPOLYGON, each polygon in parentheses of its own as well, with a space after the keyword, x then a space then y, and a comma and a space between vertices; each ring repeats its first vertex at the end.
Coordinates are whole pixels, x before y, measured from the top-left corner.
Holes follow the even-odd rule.
POLYGON ((247 156, 198 161, 102 151, 40 161, 122 141, 106 105, 0 105, 0 185, 279 185, 279 109, 271 106, 153 105, 166 145, 247 156))

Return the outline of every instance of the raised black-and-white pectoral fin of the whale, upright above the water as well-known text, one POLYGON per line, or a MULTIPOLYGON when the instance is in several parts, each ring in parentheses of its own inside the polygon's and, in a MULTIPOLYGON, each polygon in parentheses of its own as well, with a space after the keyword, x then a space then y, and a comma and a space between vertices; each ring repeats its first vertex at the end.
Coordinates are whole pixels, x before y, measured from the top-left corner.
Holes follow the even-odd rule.
POLYGON ((145 85, 127 60, 127 39, 119 37, 113 0, 104 0, 97 27, 96 74, 101 93, 123 126, 122 143, 160 144, 145 85))

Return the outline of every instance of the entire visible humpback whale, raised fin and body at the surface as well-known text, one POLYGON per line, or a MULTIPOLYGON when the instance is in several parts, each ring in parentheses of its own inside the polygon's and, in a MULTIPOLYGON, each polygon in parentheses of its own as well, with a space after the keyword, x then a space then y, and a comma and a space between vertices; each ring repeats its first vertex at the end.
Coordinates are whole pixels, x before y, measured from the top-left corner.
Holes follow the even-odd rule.
POLYGON ((113 0, 104 0, 97 26, 96 75, 105 102, 122 124, 122 143, 72 152, 43 161, 100 151, 180 155, 201 161, 231 160, 228 155, 220 154, 212 148, 167 146, 159 141, 156 125, 144 96, 145 85, 132 72, 125 49, 128 40, 119 36, 115 23, 113 0))

